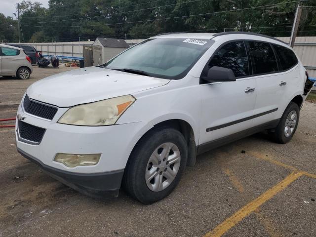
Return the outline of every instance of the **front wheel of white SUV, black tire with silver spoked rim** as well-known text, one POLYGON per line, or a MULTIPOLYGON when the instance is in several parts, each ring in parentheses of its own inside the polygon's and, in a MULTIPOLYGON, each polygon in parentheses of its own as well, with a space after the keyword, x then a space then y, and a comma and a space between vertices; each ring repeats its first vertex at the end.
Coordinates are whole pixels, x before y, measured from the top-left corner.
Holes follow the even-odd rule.
POLYGON ((125 190, 144 204, 167 197, 180 181, 187 154, 186 141, 178 130, 153 129, 138 142, 127 162, 123 179, 125 190))

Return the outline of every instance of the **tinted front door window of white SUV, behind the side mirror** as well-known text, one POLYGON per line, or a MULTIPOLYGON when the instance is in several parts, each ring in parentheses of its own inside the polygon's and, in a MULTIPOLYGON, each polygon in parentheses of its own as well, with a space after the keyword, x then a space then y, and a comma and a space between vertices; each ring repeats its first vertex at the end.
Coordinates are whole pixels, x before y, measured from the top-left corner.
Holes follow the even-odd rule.
POLYGON ((225 44, 215 53, 208 66, 232 69, 237 78, 248 76, 249 65, 243 41, 225 44))

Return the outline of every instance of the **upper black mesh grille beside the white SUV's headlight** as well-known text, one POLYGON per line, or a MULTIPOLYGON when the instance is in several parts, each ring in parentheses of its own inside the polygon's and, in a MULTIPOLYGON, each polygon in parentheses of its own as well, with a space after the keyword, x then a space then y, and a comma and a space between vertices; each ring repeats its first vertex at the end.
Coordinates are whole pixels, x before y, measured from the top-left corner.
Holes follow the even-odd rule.
POLYGON ((55 107, 30 100, 28 95, 24 97, 23 108, 25 112, 31 115, 35 115, 40 118, 46 118, 49 120, 52 120, 54 118, 58 110, 55 107))

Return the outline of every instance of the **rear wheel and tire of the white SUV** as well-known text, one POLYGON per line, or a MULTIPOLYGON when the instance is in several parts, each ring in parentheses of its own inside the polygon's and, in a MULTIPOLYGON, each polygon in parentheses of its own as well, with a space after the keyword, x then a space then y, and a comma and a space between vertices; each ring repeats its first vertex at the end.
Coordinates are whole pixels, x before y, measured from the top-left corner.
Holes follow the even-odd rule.
POLYGON ((290 102, 286 107, 275 132, 272 134, 276 143, 288 143, 296 131, 300 118, 300 109, 294 102, 290 102), (287 127, 287 128, 286 128, 287 127))

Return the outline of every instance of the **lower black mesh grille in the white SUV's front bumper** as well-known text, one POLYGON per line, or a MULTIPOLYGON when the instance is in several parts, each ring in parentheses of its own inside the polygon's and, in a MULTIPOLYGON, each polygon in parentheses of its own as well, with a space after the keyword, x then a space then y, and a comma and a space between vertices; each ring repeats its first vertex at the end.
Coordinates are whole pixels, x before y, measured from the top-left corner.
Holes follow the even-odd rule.
POLYGON ((34 143, 40 143, 46 129, 19 120, 18 130, 20 138, 34 143))

